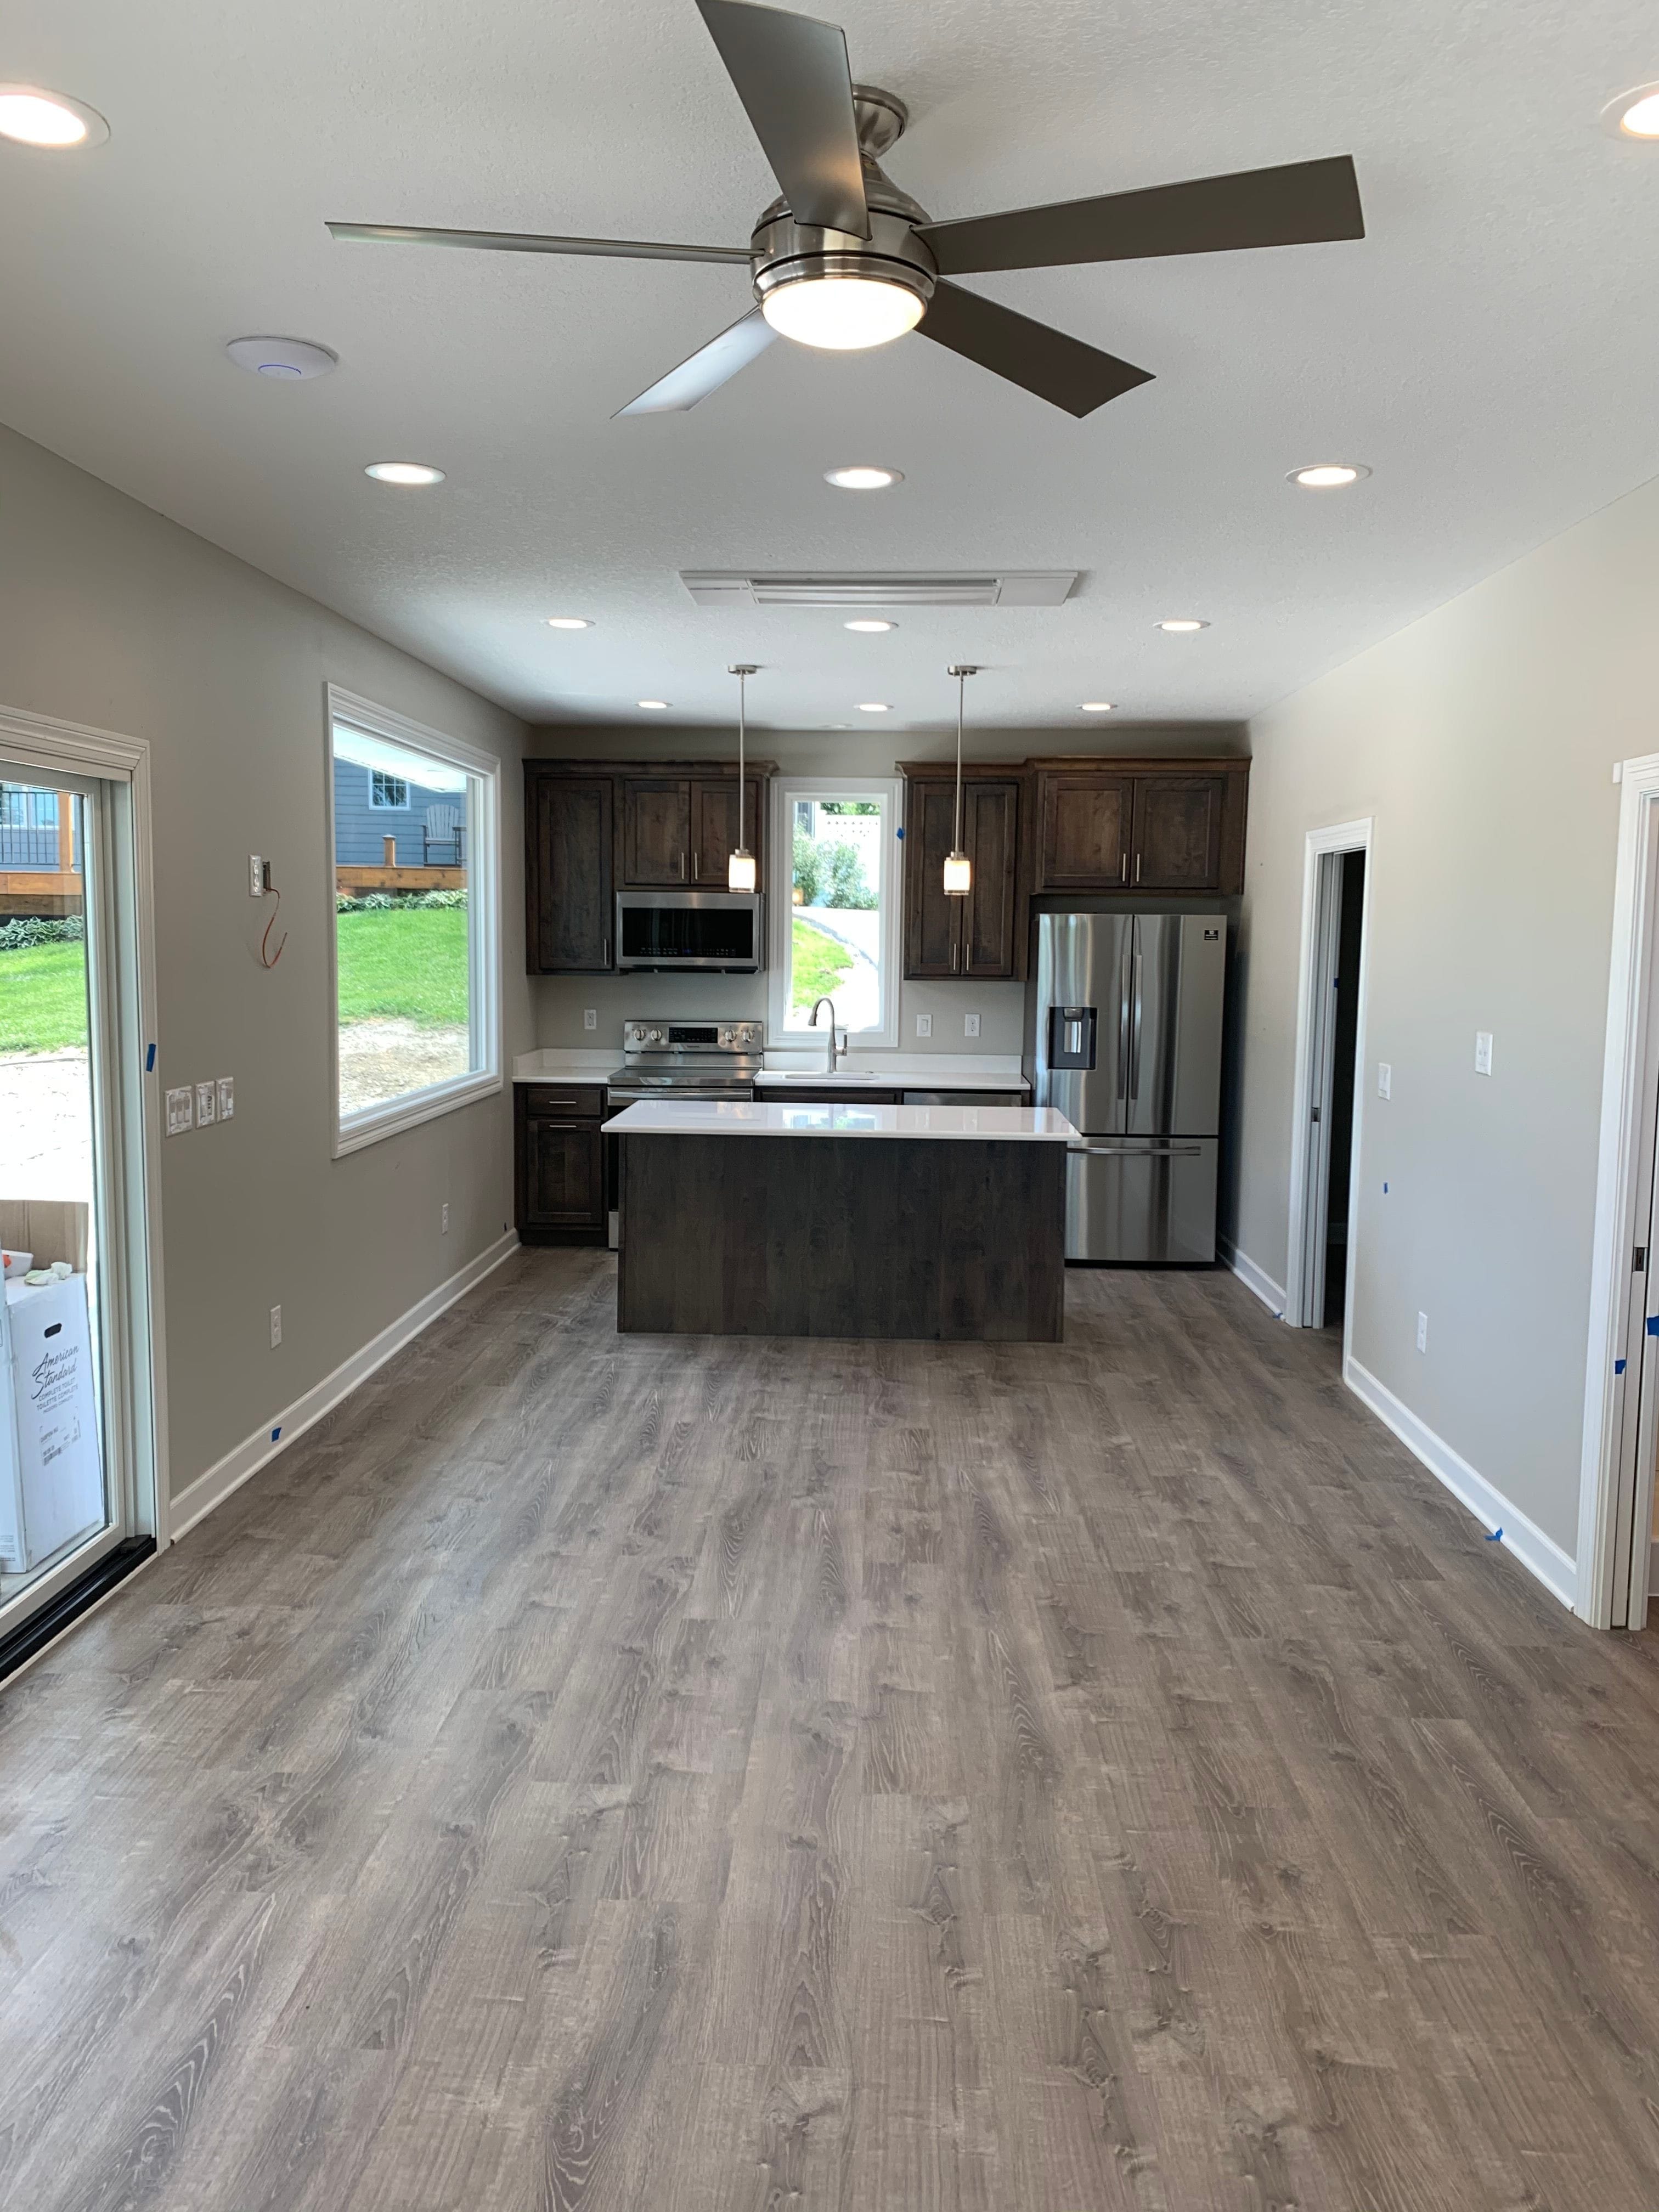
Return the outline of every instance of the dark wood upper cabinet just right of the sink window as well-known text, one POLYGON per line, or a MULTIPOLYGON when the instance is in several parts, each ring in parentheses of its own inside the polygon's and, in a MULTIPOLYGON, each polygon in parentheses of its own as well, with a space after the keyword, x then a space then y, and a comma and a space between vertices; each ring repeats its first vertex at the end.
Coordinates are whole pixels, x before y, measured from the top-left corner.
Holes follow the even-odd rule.
POLYGON ((945 891, 956 834, 956 781, 911 776, 905 805, 905 975, 1018 975, 1015 863, 1020 776, 962 779, 962 849, 973 867, 967 898, 945 891))

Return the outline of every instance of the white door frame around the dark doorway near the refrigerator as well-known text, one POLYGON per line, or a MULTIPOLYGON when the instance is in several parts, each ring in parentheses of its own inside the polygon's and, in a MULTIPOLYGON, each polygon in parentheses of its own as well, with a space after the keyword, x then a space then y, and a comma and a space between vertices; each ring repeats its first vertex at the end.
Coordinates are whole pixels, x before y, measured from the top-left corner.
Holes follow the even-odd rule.
MULTIPOLYGON (((1325 1104, 1329 1084, 1329 995, 1316 967, 1327 964, 1321 942, 1321 863, 1334 854, 1365 854, 1365 894, 1360 900, 1360 991, 1354 1029, 1354 1137, 1347 1170, 1347 1294, 1343 1301, 1343 1374, 1354 1336, 1354 1254, 1358 1250, 1358 1188, 1360 1188, 1360 1124, 1365 1115, 1365 1000, 1371 971, 1371 816, 1352 823, 1332 823, 1327 830, 1310 830, 1303 849, 1303 933, 1296 971, 1296 1062, 1290 1106, 1290 1241, 1285 1252, 1285 1321, 1294 1327, 1321 1327, 1318 1316, 1307 1316, 1307 1301, 1323 1270, 1307 1265, 1307 1239, 1318 1221, 1318 1197, 1314 1179, 1323 1181, 1327 1155, 1323 1144, 1310 1141, 1314 1128, 1314 1106, 1325 1104), (1314 1086, 1318 1084, 1318 1097, 1314 1086)), ((1327 900, 1325 920, 1340 920, 1340 902, 1327 900)), ((1321 1124, 1323 1128, 1323 1124, 1321 1124)))

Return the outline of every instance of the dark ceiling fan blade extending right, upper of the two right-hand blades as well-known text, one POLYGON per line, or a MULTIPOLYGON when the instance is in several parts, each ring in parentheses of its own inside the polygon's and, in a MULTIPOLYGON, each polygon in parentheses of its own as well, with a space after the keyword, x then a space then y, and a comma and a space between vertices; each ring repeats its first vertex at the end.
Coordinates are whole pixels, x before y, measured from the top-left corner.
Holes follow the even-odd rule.
POLYGON ((1314 246, 1363 239, 1360 181, 1340 153, 1329 161, 1192 177, 1144 192, 1062 199, 1051 208, 922 223, 947 276, 1046 270, 1073 261, 1144 261, 1157 254, 1225 254, 1241 246, 1314 246))

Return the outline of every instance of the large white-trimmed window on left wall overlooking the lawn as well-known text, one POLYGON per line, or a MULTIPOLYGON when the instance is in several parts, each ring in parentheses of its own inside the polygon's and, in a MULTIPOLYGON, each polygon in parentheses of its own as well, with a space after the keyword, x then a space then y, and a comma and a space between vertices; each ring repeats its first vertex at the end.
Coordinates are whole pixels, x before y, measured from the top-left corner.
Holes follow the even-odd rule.
POLYGON ((500 1091, 498 787, 489 754, 330 686, 336 1157, 500 1091))

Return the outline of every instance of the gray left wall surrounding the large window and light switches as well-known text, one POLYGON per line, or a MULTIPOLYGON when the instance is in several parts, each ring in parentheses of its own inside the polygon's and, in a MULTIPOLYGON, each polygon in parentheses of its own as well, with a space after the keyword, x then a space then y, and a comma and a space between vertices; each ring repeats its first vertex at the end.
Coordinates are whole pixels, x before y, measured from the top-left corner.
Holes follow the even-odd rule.
POLYGON ((173 1491, 511 1221, 507 1095, 330 1159, 323 686, 504 761, 504 1051, 531 1044, 524 730, 462 686, 0 429, 0 699, 146 737, 159 1084, 234 1075, 237 1119, 161 1148, 173 1491), (248 854, 283 889, 259 967, 248 854), (449 1237, 440 1206, 449 1201, 449 1237), (283 1343, 270 1349, 270 1307, 283 1343))

